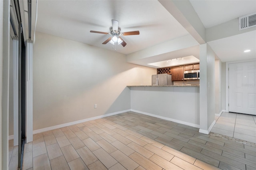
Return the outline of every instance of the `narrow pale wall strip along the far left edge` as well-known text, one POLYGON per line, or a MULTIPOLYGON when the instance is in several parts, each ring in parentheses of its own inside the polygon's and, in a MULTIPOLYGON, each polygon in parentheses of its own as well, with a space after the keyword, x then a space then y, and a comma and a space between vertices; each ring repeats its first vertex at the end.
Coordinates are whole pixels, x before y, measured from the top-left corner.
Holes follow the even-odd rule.
POLYGON ((8 169, 10 1, 0 1, 0 169, 8 169))

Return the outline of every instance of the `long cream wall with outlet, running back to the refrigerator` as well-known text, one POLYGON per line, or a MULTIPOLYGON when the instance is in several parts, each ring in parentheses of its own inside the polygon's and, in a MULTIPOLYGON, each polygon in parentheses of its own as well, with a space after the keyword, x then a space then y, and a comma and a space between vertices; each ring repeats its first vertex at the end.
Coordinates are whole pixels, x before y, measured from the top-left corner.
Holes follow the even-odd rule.
POLYGON ((33 56, 33 130, 130 109, 126 86, 151 85, 156 74, 115 51, 39 32, 33 56))

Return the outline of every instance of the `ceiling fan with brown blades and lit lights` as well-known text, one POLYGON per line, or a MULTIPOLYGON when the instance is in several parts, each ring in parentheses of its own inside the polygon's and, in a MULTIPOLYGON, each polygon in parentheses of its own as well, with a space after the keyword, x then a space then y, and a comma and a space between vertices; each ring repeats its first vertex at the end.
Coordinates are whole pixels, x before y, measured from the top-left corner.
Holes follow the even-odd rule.
POLYGON ((125 47, 126 42, 124 42, 124 40, 120 36, 140 35, 139 31, 121 32, 121 28, 118 27, 117 20, 112 20, 112 27, 110 27, 109 30, 110 30, 110 33, 99 32, 99 31, 90 31, 90 32, 111 35, 111 37, 108 38, 106 41, 104 41, 102 44, 106 44, 106 43, 110 42, 114 45, 114 44, 118 43, 118 44, 122 44, 123 47, 125 47))

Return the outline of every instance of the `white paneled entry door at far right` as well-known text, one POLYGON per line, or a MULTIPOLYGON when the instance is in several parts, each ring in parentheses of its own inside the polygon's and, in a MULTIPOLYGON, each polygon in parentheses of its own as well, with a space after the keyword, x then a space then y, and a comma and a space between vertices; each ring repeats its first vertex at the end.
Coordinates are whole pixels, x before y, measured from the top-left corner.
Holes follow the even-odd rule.
POLYGON ((229 64, 229 111, 256 115, 256 61, 229 64))

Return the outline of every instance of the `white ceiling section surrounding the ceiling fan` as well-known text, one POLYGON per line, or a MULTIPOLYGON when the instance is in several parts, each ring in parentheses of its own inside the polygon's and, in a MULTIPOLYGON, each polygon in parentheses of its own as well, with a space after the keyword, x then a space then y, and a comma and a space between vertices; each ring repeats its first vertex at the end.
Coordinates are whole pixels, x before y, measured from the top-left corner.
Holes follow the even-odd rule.
POLYGON ((112 19, 121 32, 140 31, 122 37, 127 45, 116 51, 124 54, 188 34, 157 0, 39 0, 36 31, 112 50, 102 44, 109 35, 90 33, 110 32, 112 19))

